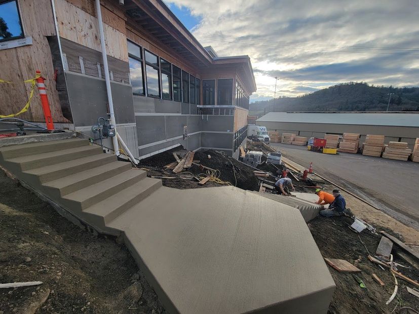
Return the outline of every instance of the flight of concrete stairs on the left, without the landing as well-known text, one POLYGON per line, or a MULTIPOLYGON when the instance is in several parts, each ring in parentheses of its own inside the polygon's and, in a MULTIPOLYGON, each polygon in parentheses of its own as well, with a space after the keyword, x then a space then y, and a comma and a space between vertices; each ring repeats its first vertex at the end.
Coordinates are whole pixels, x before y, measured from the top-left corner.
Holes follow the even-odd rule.
POLYGON ((120 230, 106 223, 162 186, 78 138, 2 147, 0 164, 85 223, 115 235, 120 230))

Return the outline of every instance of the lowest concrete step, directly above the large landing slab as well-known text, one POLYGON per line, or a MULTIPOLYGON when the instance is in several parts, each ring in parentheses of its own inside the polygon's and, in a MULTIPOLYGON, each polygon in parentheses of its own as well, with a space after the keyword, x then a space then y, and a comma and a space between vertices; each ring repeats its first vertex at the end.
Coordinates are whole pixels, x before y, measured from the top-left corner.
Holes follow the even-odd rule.
POLYGON ((104 226, 144 200, 161 186, 162 180, 144 178, 132 186, 112 195, 112 197, 85 209, 83 212, 97 216, 97 218, 92 218, 95 220, 94 222, 104 226))

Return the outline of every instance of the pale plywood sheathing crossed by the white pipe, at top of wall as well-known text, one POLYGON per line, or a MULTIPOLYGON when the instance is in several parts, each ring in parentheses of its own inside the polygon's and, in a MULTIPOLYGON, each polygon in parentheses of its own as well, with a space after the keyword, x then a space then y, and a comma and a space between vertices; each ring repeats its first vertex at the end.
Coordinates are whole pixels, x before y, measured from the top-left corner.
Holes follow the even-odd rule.
MULTIPOLYGON (((101 51, 97 18, 65 0, 56 1, 58 29, 61 37, 72 42, 101 51)), ((128 62, 126 35, 104 24, 106 54, 128 62)))

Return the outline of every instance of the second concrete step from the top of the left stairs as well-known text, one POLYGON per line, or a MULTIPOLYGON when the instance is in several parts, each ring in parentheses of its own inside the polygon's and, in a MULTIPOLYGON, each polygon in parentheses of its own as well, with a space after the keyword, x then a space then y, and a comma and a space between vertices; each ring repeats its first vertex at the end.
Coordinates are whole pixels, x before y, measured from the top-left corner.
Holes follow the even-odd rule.
MULTIPOLYGON (((81 146, 67 148, 59 151, 46 152, 35 155, 28 155, 6 160, 5 163, 20 171, 26 171, 45 167, 46 165, 55 165, 62 162, 79 159, 88 155, 103 153, 100 146, 81 146)), ((13 170, 12 170, 13 172, 13 170)))

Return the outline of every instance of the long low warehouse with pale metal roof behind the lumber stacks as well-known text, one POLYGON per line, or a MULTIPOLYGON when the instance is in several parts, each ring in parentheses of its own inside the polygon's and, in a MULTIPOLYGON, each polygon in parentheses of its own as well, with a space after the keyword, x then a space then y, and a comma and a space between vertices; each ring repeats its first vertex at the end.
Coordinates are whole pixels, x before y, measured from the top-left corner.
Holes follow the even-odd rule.
POLYGON ((385 142, 407 142, 419 137, 419 112, 269 112, 256 120, 269 131, 323 137, 326 133, 385 135, 385 142))

